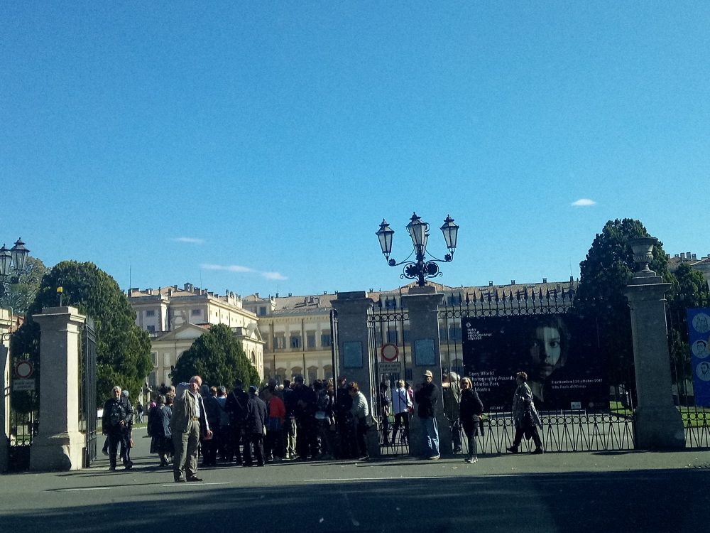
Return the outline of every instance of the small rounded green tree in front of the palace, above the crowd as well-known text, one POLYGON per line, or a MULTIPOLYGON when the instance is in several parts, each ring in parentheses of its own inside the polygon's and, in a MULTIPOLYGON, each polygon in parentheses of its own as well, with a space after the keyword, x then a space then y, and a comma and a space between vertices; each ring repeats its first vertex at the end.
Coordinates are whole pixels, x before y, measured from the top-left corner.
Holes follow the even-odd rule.
POLYGON ((202 377, 204 383, 228 388, 234 379, 245 384, 259 382, 258 372, 246 357, 241 342, 224 324, 213 325, 200 335, 190 350, 180 356, 170 378, 173 383, 187 382, 194 375, 202 377))

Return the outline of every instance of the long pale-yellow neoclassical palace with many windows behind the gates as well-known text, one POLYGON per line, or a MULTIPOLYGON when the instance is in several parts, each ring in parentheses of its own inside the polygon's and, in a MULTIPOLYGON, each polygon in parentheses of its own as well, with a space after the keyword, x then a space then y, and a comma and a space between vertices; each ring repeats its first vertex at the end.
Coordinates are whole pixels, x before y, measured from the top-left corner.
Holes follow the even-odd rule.
MULTIPOLYGON (((689 262, 710 279, 710 257, 697 259, 696 254, 676 254, 669 258, 669 267, 677 269, 682 262, 689 262)), ((366 296, 380 308, 399 308, 401 296, 408 294, 412 285, 391 291, 367 291, 366 296)), ((574 279, 562 282, 543 279, 534 284, 511 281, 504 285, 490 282, 487 286, 451 287, 433 282, 430 285, 444 295, 444 303, 452 303, 461 295, 480 298, 522 291, 530 294, 569 291, 576 289, 577 282, 574 279)), ((170 383, 170 370, 178 357, 214 324, 229 325, 262 378, 280 380, 302 374, 310 383, 317 378, 332 377, 330 311, 337 293, 307 296, 261 296, 257 293, 243 298, 231 291, 220 296, 187 283, 182 287, 129 289, 128 296, 136 310, 136 324, 151 336, 153 372, 148 376, 151 387, 170 383)), ((448 327, 449 330, 442 323, 442 340, 460 335, 460 331, 450 330, 451 324, 448 327)), ((405 323, 402 330, 394 333, 397 338, 380 339, 379 342, 405 342, 407 333, 405 323)), ((450 364, 457 367, 460 361, 452 360, 450 364)))

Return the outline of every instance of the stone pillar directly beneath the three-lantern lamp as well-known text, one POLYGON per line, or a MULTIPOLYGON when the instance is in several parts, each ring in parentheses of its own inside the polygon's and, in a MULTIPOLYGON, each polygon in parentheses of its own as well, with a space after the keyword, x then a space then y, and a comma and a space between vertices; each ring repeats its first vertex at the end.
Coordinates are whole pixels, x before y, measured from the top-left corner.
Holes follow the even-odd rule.
MULTIPOLYGON (((425 370, 431 370, 434 375, 432 380, 439 388, 439 402, 437 402, 437 426, 439 429, 439 453, 450 456, 453 453, 452 435, 449 421, 444 416, 444 395, 442 393, 442 363, 441 346, 439 345, 439 306, 444 301, 443 294, 437 294, 435 287, 413 287, 409 294, 402 296, 403 306, 409 310, 409 333, 412 343, 412 384, 422 382, 425 370), (433 360, 425 360, 431 357, 433 360)), ((410 421, 409 453, 415 457, 425 455, 425 443, 422 438, 422 422, 417 416, 417 406, 414 407, 414 416, 410 421)))

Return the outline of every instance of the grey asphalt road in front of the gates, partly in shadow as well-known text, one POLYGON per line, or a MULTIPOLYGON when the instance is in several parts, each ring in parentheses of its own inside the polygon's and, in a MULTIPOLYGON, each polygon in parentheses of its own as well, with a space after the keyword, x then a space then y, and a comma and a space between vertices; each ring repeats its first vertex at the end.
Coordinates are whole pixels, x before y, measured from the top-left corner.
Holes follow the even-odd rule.
POLYGON ((131 470, 101 456, 2 476, 0 532, 671 532, 706 529, 710 508, 709 451, 218 466, 176 484, 141 431, 131 470))

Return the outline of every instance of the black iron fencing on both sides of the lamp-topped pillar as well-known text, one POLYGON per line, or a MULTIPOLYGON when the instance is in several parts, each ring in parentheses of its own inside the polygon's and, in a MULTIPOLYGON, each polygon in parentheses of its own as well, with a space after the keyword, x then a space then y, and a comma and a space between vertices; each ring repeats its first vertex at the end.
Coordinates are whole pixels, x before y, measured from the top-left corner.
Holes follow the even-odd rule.
MULTIPOLYGON (((444 294, 444 303, 439 307, 439 341, 442 370, 464 374, 461 318, 555 315, 569 311, 574 291, 552 289, 544 293, 520 290, 508 293, 479 291, 476 294, 449 292, 444 294)), ((397 345, 403 362, 402 378, 411 381, 411 349, 408 342, 409 313, 398 298, 379 301, 372 316, 368 318, 373 344, 381 347, 386 343, 397 345)), ((380 380, 389 380, 391 386, 399 375, 378 375, 380 380)), ((513 391, 510 392, 513 394, 513 391)), ((482 398, 484 404, 485 397, 482 398)), ((626 402, 625 402, 626 403, 626 402)), ((619 404, 621 407, 621 404, 619 404)), ((612 410, 611 404, 594 411, 542 411, 540 437, 545 451, 611 451, 634 448, 634 425, 631 414, 633 405, 627 409, 612 410)), ((379 411, 379 407, 376 410, 379 411)), ((486 411, 483 435, 478 438, 479 453, 503 453, 513 443, 515 426, 509 412, 486 411)), ((408 453, 408 443, 400 433, 395 438, 386 433, 393 421, 384 424, 382 416, 376 416, 380 433, 381 453, 401 455, 408 453)), ((453 424, 451 424, 453 426, 453 424)), ((454 428, 453 431, 459 431, 454 428)), ((461 439, 464 453, 466 438, 461 439)), ((528 444, 523 441, 523 447, 528 444)))

